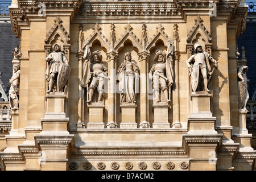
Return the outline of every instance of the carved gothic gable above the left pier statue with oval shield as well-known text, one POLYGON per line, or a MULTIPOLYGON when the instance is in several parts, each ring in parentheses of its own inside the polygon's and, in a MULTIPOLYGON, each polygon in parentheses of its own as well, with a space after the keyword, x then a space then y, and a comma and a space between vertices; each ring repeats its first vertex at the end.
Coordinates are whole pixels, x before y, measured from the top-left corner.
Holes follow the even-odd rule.
POLYGON ((48 34, 46 35, 46 40, 44 40, 44 42, 46 44, 51 44, 54 40, 60 39, 60 41, 63 44, 69 44, 70 38, 69 38, 68 32, 65 30, 65 28, 62 25, 63 21, 60 19, 59 16, 57 16, 54 22, 55 23, 51 28, 51 30, 49 30, 48 34))

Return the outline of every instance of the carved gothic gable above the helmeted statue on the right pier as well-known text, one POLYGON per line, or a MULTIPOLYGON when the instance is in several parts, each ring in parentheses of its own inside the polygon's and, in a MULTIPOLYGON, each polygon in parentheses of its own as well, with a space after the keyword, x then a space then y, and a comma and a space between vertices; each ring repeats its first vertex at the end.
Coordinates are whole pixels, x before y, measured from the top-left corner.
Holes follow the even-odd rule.
POLYGON ((187 43, 195 43, 200 41, 203 41, 204 43, 211 43, 212 38, 210 37, 209 31, 207 30, 207 28, 205 28, 203 24, 203 19, 201 19, 200 16, 197 15, 195 19, 195 24, 187 35, 187 43))

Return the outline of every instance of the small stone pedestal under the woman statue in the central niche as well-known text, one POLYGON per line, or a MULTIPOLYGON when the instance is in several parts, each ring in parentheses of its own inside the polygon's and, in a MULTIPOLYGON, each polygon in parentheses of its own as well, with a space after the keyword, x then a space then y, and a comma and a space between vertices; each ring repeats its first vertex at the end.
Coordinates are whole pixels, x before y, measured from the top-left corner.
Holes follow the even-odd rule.
POLYGON ((120 123, 121 129, 137 129, 136 123, 136 108, 135 104, 122 104, 121 113, 122 113, 122 122, 120 123))

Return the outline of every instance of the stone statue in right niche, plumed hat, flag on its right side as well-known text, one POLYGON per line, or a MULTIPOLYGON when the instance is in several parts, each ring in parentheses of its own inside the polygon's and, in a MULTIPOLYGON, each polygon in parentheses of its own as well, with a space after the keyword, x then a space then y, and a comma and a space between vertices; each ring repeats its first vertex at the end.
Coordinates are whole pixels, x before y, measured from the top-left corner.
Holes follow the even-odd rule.
POLYGON ((164 51, 156 50, 154 61, 149 72, 152 80, 153 97, 155 102, 160 102, 160 90, 164 93, 166 102, 171 102, 171 87, 174 84, 174 71, 172 68, 172 48, 168 48, 167 56, 164 51))

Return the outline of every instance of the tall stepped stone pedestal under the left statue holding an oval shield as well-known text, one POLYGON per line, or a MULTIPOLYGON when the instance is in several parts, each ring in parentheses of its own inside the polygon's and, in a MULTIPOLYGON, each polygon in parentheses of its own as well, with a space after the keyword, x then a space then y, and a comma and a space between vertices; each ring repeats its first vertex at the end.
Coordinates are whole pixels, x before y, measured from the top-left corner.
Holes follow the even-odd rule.
POLYGON ((63 92, 46 95, 46 114, 41 118, 42 131, 34 135, 35 146, 42 150, 42 171, 55 169, 55 166, 60 170, 68 169, 68 157, 74 144, 74 135, 68 132, 69 118, 65 114, 65 98, 63 92))

